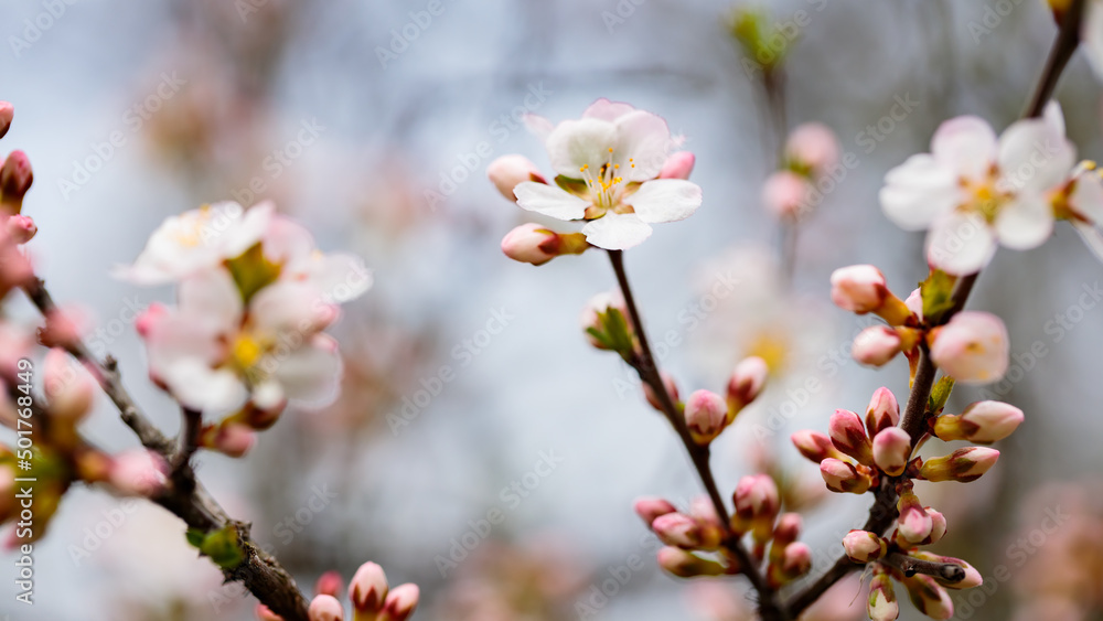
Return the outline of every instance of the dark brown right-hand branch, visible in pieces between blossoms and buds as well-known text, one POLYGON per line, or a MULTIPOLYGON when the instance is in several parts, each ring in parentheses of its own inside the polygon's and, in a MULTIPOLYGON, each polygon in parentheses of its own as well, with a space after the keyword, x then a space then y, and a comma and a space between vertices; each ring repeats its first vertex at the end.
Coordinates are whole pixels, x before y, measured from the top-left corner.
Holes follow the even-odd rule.
MULTIPOLYGON (((1080 25, 1083 20, 1084 0, 1073 0, 1061 22, 1061 30, 1053 41, 1046 67, 1042 69, 1038 86, 1035 88, 1024 118, 1041 116, 1046 104, 1053 96, 1053 89, 1060 81, 1061 73, 1068 64, 1069 58, 1077 51, 1080 44, 1080 25)), ((965 308, 970 293, 973 291, 977 274, 971 274, 957 279, 951 295, 953 301, 950 310, 943 315, 942 322, 961 312, 965 308)), ((925 349, 920 351, 919 365, 915 370, 915 379, 912 385, 911 395, 904 409, 903 418, 900 421, 901 428, 908 431, 914 447, 927 431, 927 403, 931 397, 931 388, 934 382, 935 368, 925 349)), ((874 505, 869 510, 869 517, 866 520, 863 529, 871 533, 882 534, 892 525, 897 517, 897 483, 899 478, 882 478, 881 485, 875 492, 874 505)), ((824 593, 832 585, 840 580, 850 571, 861 567, 854 564, 845 555, 842 556, 823 576, 815 582, 797 592, 789 602, 789 610, 793 614, 799 614, 824 593)))

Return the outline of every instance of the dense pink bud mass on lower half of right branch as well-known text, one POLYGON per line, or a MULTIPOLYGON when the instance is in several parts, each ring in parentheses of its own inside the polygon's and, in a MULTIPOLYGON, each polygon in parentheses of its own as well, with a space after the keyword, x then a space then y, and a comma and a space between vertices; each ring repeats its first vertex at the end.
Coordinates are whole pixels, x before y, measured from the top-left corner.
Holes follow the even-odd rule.
MULTIPOLYGON (((941 404, 932 404, 924 432, 946 441, 970 440, 990 443, 1009 436, 1022 422, 1022 411, 998 403, 979 401, 961 415, 941 415, 941 404)), ((981 478, 999 458, 985 447, 961 448, 947 456, 912 458, 914 443, 900 424, 900 408, 888 388, 874 393, 865 420, 853 411, 837 410, 828 433, 804 430, 793 435, 797 450, 820 464, 827 489, 864 494, 891 485, 897 493, 898 516, 888 537, 867 531, 852 531, 843 540, 854 563, 876 564, 870 586, 868 612, 874 621, 896 619, 899 606, 891 579, 903 585, 915 607, 933 619, 950 619, 953 604, 945 589, 967 589, 981 583, 981 575, 957 558, 920 550, 946 534, 946 520, 924 506, 912 480, 967 483, 981 478)))

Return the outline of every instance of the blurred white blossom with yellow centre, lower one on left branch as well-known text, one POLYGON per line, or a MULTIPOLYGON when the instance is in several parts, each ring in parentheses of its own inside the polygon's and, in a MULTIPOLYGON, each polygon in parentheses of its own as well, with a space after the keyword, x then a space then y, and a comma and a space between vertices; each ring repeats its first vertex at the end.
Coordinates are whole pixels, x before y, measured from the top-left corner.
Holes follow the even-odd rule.
POLYGON ((323 405, 341 374, 336 342, 321 330, 336 309, 308 282, 276 282, 248 306, 217 267, 180 285, 179 307, 140 320, 150 375, 183 405, 224 411, 247 398, 261 409, 285 399, 323 405))

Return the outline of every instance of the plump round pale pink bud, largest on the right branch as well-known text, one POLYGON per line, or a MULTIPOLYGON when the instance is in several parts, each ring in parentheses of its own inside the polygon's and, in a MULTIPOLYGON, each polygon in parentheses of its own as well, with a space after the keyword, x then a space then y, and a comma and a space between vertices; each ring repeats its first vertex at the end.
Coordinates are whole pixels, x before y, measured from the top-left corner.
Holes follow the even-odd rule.
POLYGON ((935 332, 931 360, 963 384, 998 382, 1007 372, 1007 328, 987 312, 960 312, 935 332))

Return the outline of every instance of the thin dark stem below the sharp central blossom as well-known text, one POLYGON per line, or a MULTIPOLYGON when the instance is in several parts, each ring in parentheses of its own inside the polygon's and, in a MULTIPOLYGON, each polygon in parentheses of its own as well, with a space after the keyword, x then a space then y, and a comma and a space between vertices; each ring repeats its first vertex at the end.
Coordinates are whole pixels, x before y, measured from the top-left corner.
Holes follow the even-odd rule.
POLYGON ((651 353, 651 344, 647 341, 646 331, 643 329, 640 310, 635 304, 632 288, 628 282, 628 274, 624 271, 623 251, 609 250, 609 260, 613 265, 613 271, 617 274, 617 283, 624 296, 624 304, 628 307, 629 319, 635 328, 635 334, 640 342, 639 356, 631 362, 632 367, 639 373, 640 379, 651 386, 651 389, 658 399, 658 405, 662 406, 663 415, 670 421, 671 426, 674 427, 674 430, 677 431, 678 437, 682 439, 682 445, 685 447, 686 452, 689 453, 689 459, 697 470, 697 475, 700 478, 702 484, 705 485, 705 491, 708 493, 708 497, 724 528, 724 546, 739 561, 740 570, 747 575, 747 578, 751 581, 751 586, 759 593, 759 612, 763 621, 788 621, 790 617, 777 601, 774 590, 767 583, 754 559, 743 547, 742 542, 740 542, 739 535, 731 532, 730 515, 727 505, 724 503, 724 497, 716 486, 716 479, 713 477, 713 469, 709 465, 708 447, 703 447, 693 440, 689 436, 689 429, 686 427, 685 418, 678 413, 677 407, 674 405, 674 399, 666 392, 666 384, 663 382, 658 366, 655 363, 655 357, 651 353))

